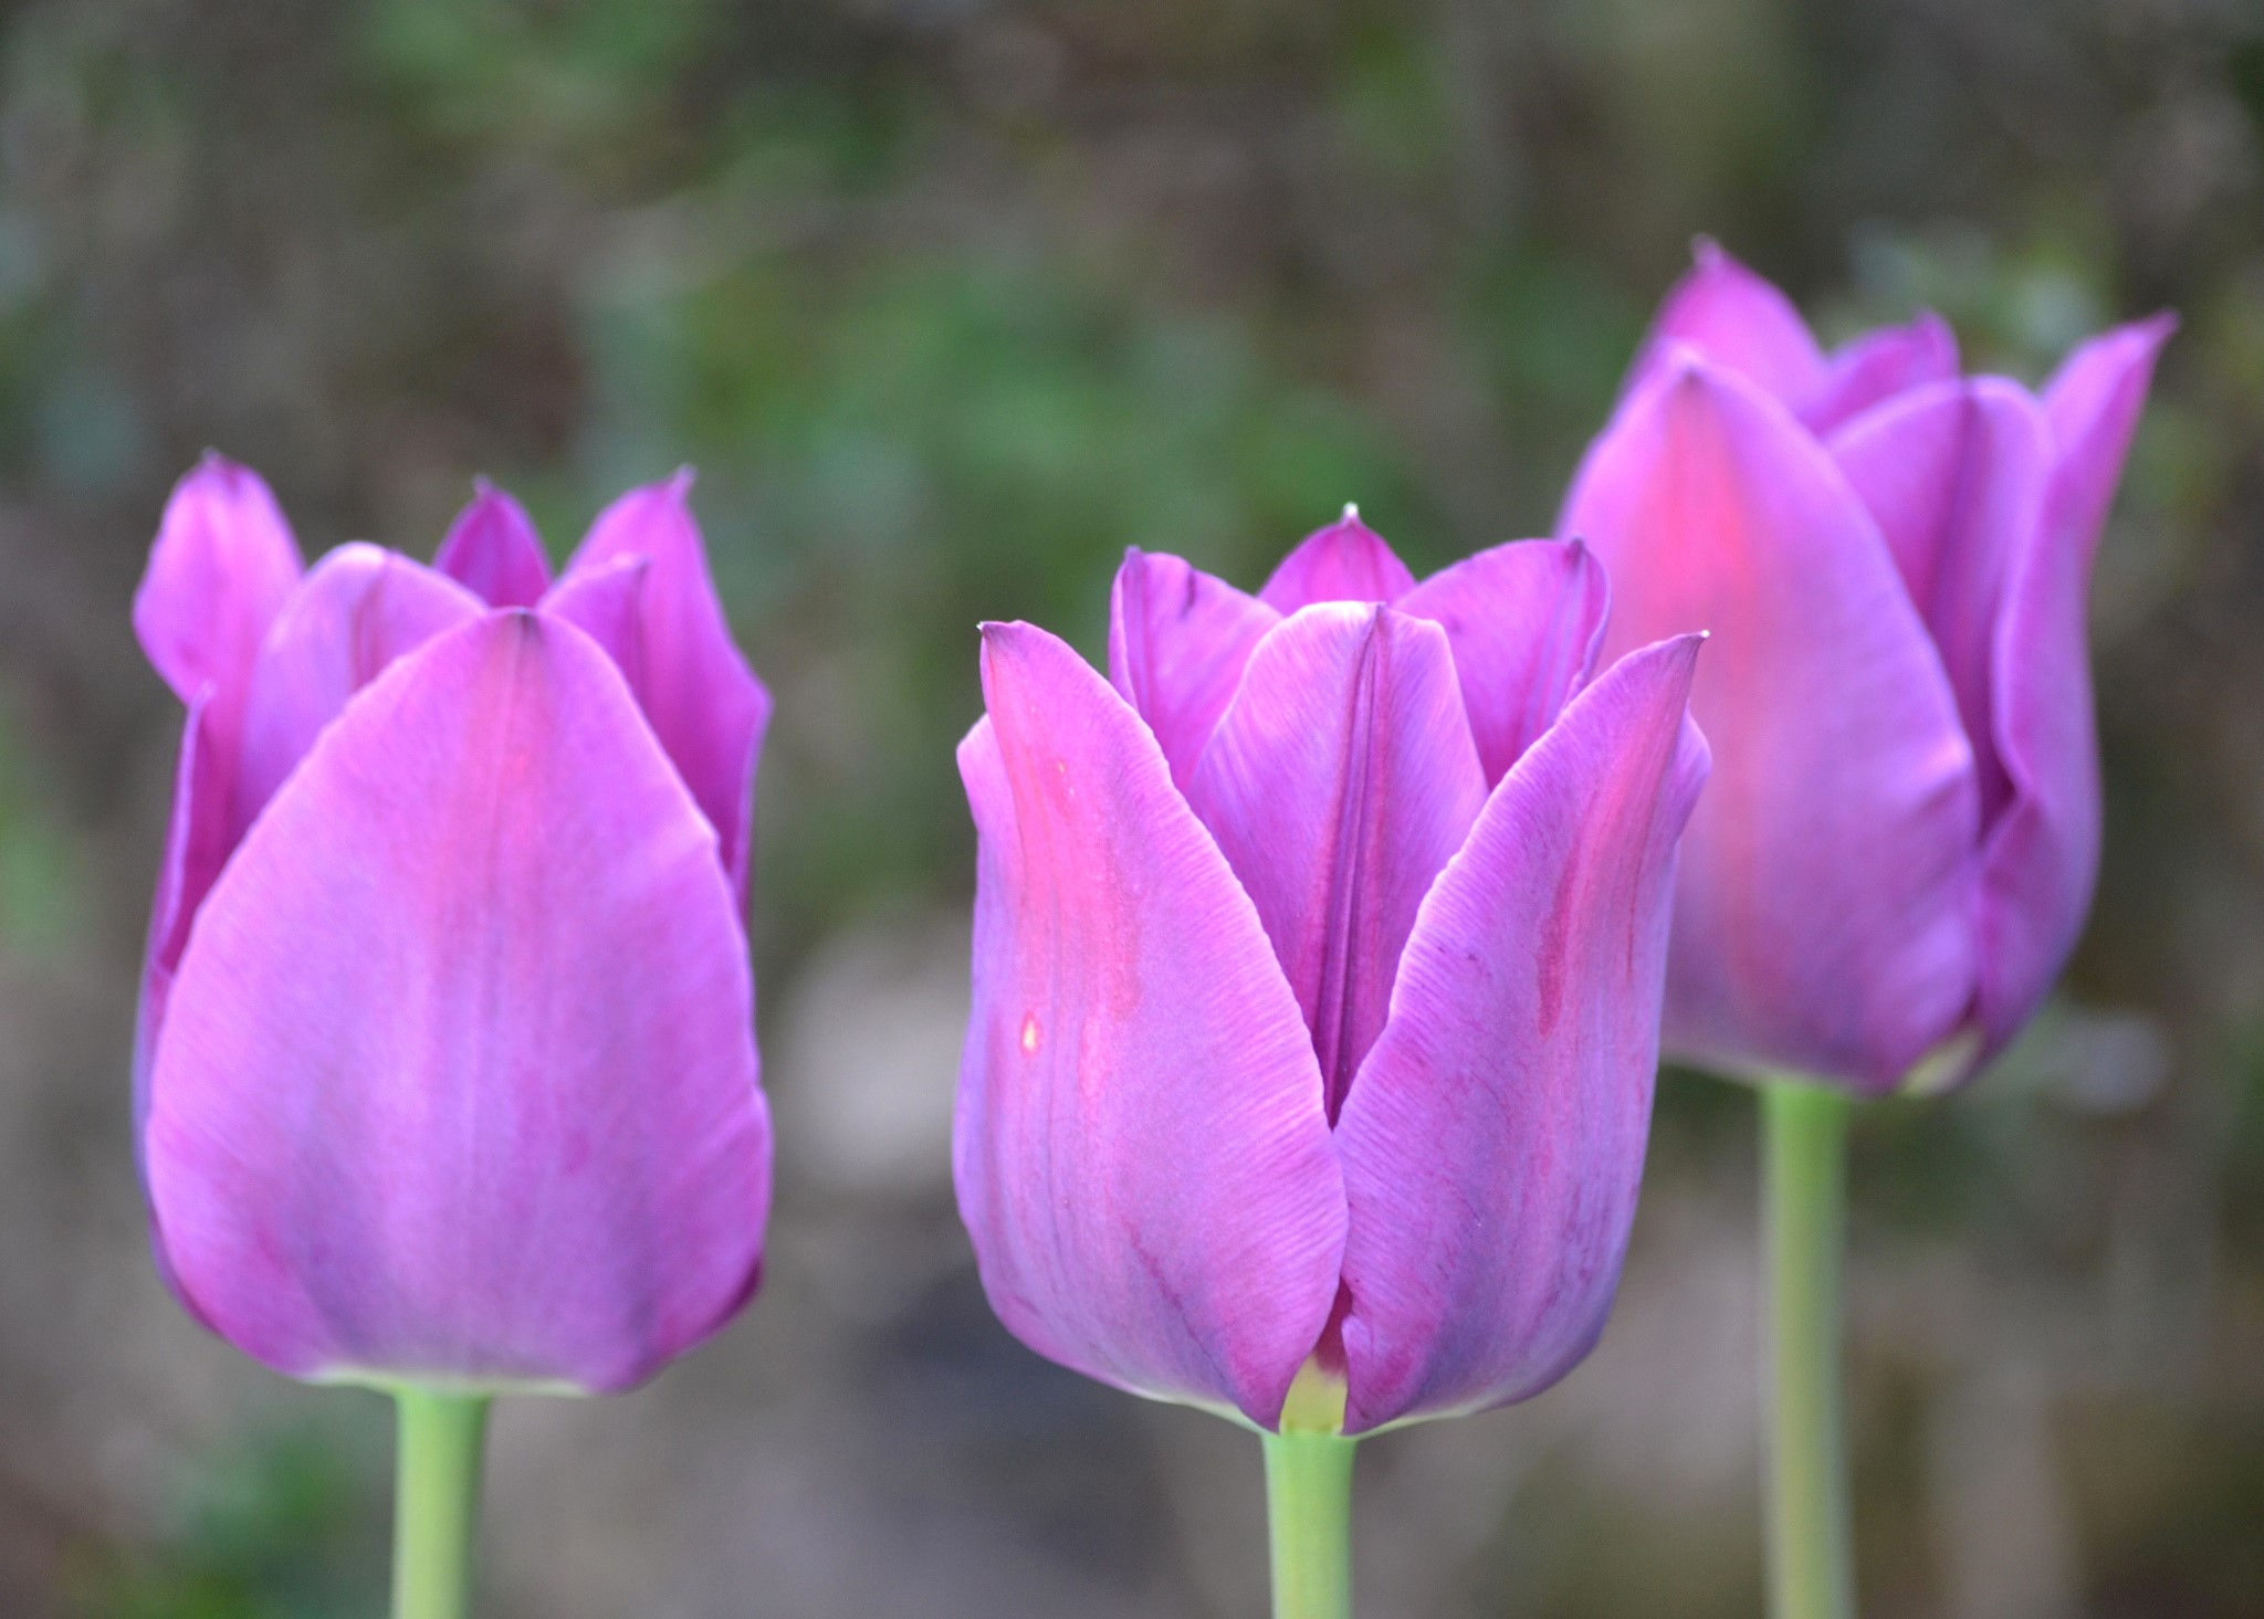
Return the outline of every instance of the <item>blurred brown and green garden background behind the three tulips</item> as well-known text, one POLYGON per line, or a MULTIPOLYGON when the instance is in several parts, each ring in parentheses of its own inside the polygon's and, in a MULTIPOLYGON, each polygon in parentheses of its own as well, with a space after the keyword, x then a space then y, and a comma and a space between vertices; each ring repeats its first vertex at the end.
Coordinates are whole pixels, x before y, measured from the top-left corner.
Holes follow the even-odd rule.
MULTIPOLYGON (((512 1402, 496 1619, 1263 1610, 1259 1451, 1012 1343, 946 1182, 974 623, 1103 643, 1358 500, 1546 532, 1693 231, 2040 378, 2185 315, 2101 555, 2065 996, 1863 1114, 1866 1614, 2264 1614, 2264 16, 2237 0, 16 0, 0 9, 0 1612, 374 1617, 389 1417, 158 1286, 127 1130, 217 446, 301 541, 564 552, 700 466, 779 697, 749 1316, 512 1402)), ((1752 1100, 1669 1078, 1603 1350, 1361 1458, 1372 1619, 1759 1610, 1752 1100)))

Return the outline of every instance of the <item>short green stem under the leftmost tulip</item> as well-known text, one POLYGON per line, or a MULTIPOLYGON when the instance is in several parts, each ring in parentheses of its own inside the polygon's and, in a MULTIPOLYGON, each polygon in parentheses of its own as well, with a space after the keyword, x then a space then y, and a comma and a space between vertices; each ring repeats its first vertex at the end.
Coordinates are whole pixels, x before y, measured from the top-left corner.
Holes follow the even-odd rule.
POLYGON ((401 1388, 394 1399, 394 1619, 469 1619, 487 1395, 401 1388))

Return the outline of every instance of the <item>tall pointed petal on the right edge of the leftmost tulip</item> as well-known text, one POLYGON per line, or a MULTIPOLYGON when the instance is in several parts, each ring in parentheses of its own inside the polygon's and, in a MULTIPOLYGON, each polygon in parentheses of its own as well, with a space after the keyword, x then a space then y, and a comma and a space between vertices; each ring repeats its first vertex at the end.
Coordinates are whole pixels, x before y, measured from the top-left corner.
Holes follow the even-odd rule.
MULTIPOLYGON (((661 747, 715 826, 722 863, 747 892, 754 761, 770 725, 770 693, 731 643, 691 512, 691 473, 632 489, 598 514, 566 580, 620 557, 648 557, 638 702, 661 747)), ((564 580, 561 580, 564 589, 564 580)))

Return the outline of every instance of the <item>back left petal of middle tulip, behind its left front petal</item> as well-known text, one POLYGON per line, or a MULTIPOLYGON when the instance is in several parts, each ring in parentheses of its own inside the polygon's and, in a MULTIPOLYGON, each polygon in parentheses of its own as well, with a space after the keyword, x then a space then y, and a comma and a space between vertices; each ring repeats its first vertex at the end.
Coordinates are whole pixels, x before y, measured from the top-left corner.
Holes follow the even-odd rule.
POLYGON ((1164 745, 1184 788, 1243 679, 1250 650, 1281 614, 1177 557, 1125 550, 1109 591, 1109 682, 1164 745))

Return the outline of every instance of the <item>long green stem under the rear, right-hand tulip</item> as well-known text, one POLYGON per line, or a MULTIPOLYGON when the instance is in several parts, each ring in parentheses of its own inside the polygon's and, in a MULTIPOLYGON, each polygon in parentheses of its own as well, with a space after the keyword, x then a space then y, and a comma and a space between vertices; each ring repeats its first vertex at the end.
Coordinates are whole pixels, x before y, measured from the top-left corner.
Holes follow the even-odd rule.
POLYGON ((1841 1250, 1847 1241, 1847 1098, 1761 1087, 1768 1248, 1768 1612, 1852 1619, 1854 1567, 1841 1417, 1841 1250))

